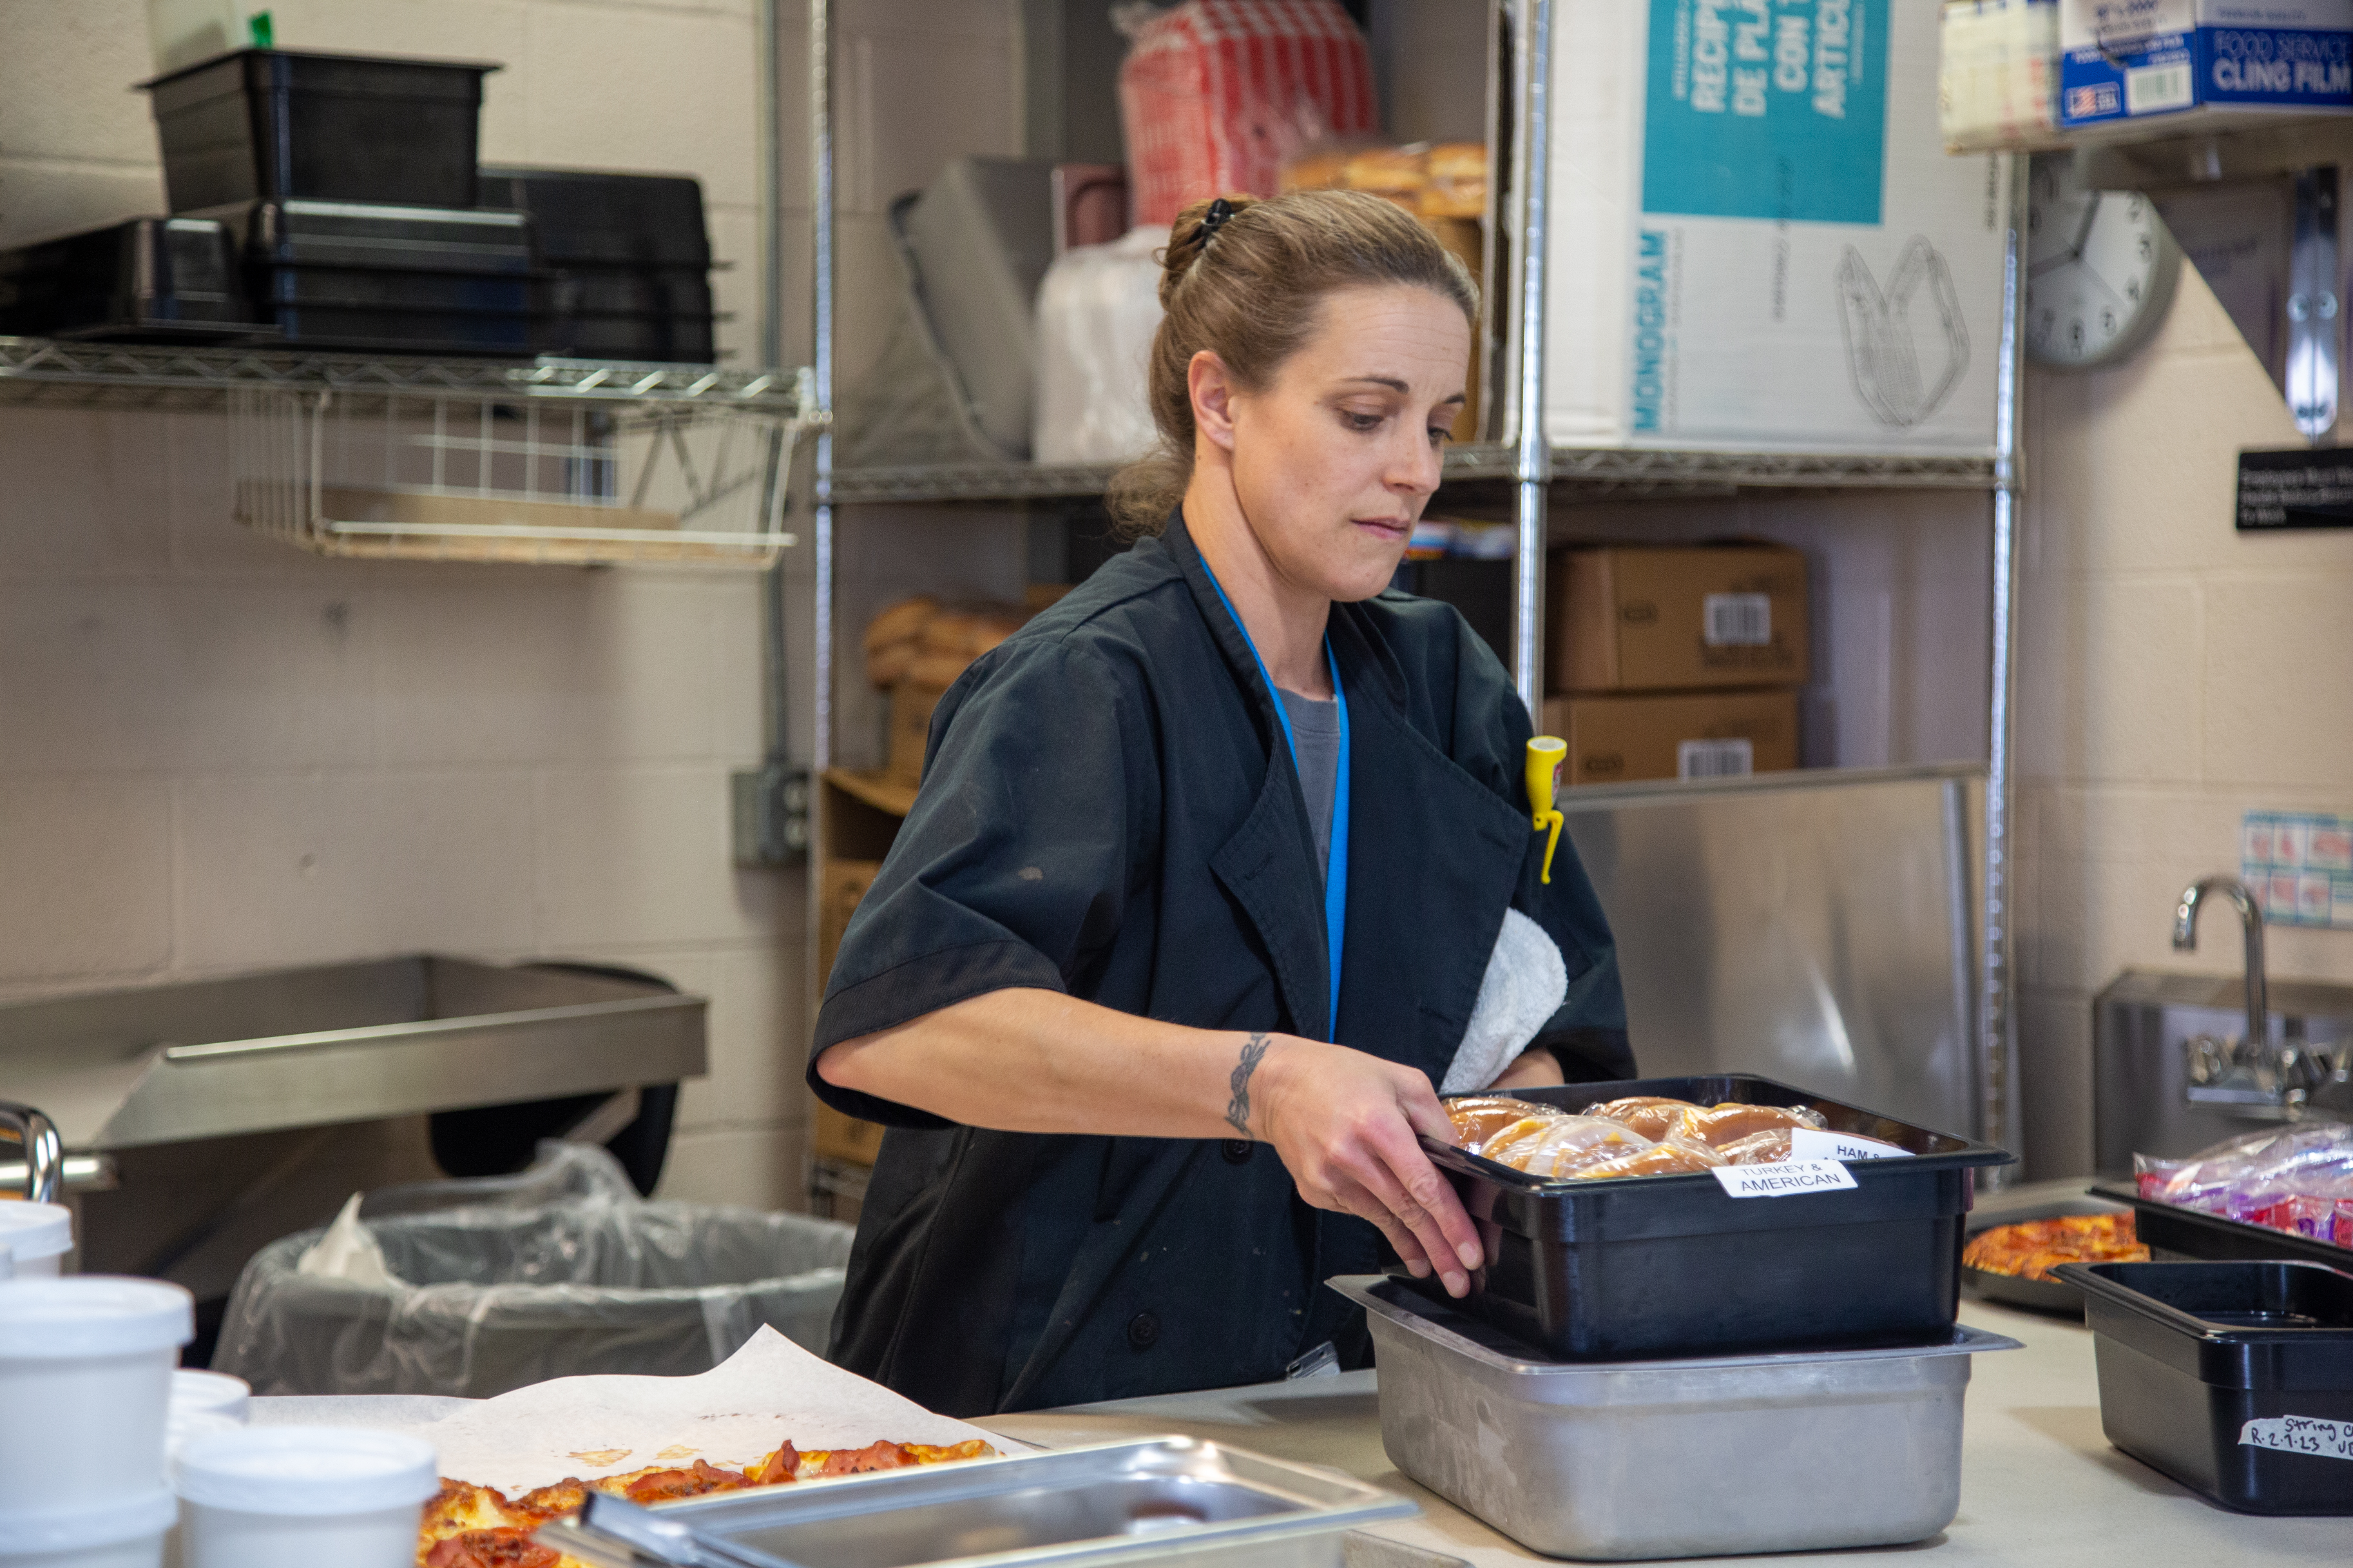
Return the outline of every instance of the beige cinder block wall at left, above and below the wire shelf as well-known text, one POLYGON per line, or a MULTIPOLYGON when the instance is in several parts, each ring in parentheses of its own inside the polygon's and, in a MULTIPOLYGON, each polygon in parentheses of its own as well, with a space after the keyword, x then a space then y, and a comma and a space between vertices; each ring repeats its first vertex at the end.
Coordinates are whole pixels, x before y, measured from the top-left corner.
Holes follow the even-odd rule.
MULTIPOLYGON (((781 9, 802 362, 805 16, 781 9)), ((485 158, 701 179, 720 343, 758 357, 753 0, 273 12, 287 47, 504 61, 485 158)), ((845 371, 896 299, 882 200, 953 150, 1012 150, 1009 12, 835 7, 845 371)), ((162 212, 146 75, 139 0, 0 7, 0 244, 162 212)), ((755 578, 313 559, 231 522, 224 435, 212 414, 0 407, 0 997, 419 947, 652 969, 713 999, 666 1192, 798 1206, 805 879, 736 872, 727 842, 727 773, 762 750, 755 578)), ((922 569, 1019 592, 1019 531, 969 522, 925 536, 922 569)), ((859 574, 904 552, 845 541, 852 588, 882 592, 859 574)), ((805 757, 805 691, 793 717, 805 757)))

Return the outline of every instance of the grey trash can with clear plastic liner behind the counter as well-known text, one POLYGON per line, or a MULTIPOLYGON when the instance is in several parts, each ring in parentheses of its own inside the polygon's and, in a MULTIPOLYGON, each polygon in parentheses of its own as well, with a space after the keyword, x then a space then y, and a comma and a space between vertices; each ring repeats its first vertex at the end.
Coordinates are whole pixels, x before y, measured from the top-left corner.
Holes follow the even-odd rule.
POLYGON ((261 1248, 212 1366, 256 1394, 482 1399, 576 1373, 701 1373, 762 1324, 824 1354, 849 1237, 647 1201, 605 1150, 546 1143, 518 1178, 388 1190, 261 1248), (362 1218, 376 1199, 386 1213, 362 1218))

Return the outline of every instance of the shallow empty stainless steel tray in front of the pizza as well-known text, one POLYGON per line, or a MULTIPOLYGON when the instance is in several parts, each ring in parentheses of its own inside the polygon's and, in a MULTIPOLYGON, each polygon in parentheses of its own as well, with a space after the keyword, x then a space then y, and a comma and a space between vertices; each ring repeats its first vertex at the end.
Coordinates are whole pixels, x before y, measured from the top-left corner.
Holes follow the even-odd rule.
MULTIPOLYGON (((1419 1507, 1334 1469, 1155 1436, 694 1497, 656 1512, 805 1568, 1339 1568, 1346 1530, 1419 1507)), ((600 1568, 642 1568, 572 1523, 544 1526, 539 1542, 600 1568)))

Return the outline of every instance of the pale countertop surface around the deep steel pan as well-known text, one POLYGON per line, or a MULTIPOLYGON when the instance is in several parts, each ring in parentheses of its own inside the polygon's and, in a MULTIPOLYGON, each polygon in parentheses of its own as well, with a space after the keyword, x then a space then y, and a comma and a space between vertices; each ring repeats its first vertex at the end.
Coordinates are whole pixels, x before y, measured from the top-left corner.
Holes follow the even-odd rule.
MULTIPOLYGON (((1929 1561, 2021 1568, 2341 1568, 2353 1556, 2353 1519, 2228 1514, 2111 1448, 2099 1429, 2092 1335, 2080 1324, 1981 1302, 1965 1302, 1960 1316, 2026 1345, 1977 1356, 1962 1427, 1960 1516, 1915 1547, 1840 1552, 1840 1568, 1897 1561, 1920 1568, 1920 1554, 1929 1549, 1937 1554, 1929 1561)), ((1282 1460, 1332 1465, 1419 1502, 1419 1519, 1369 1530, 1374 1540, 1362 1552, 1351 1552, 1358 1568, 1438 1568, 1449 1559, 1475 1568, 1553 1561, 1398 1474, 1381 1450, 1374 1380, 1377 1373, 1344 1373, 1289 1385, 993 1415, 976 1425, 1047 1448, 1184 1432, 1282 1460)), ((1821 1483, 1826 1490, 1835 1488, 1838 1476, 1824 1476, 1821 1483)), ((1715 1561, 1821 1568, 1824 1556, 1715 1561)))

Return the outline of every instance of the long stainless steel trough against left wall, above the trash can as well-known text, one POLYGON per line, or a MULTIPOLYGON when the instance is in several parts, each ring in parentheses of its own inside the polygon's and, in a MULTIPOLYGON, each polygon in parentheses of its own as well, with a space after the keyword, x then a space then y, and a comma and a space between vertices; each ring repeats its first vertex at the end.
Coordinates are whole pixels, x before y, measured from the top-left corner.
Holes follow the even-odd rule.
POLYGON ((0 1006, 0 1098, 68 1150, 546 1100, 704 1072, 704 999, 438 954, 0 1006))

